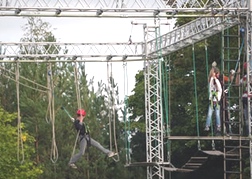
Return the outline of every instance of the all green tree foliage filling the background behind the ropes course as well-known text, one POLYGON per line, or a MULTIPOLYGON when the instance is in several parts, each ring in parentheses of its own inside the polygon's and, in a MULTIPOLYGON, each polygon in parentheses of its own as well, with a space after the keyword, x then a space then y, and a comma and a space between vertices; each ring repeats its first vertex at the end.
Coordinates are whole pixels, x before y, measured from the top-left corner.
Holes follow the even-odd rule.
MULTIPOLYGON (((187 23, 191 19, 179 19, 177 26, 187 23)), ((23 42, 55 42, 56 38, 50 30, 50 24, 41 19, 28 18, 28 23, 24 26, 23 42)), ((226 33, 237 33, 237 29, 230 29, 226 33)), ((208 94, 207 94, 207 76, 211 63, 215 60, 221 64, 221 34, 217 34, 205 41, 194 44, 195 59, 191 47, 184 48, 173 54, 169 58, 164 58, 165 67, 162 70, 168 78, 163 81, 167 86, 163 86, 162 101, 168 102, 168 112, 163 109, 164 119, 168 118, 169 127, 172 135, 197 135, 197 127, 202 135, 202 128, 205 123, 208 94), (208 52, 205 51, 205 45, 208 52), (193 67, 193 60, 196 62, 196 69, 193 67), (194 76, 195 75, 195 76, 194 76), (195 78, 196 77, 196 81, 195 78), (197 98, 195 96, 195 86, 197 98), (166 91, 167 89, 167 91, 166 91), (197 110, 196 110, 197 109, 197 110), (198 114, 196 113, 198 112, 198 114)), ((227 41, 227 39, 225 39, 227 41)), ((230 46, 237 46, 237 42, 231 41, 230 46)), ((44 46, 42 49, 24 48, 21 53, 29 50, 30 53, 38 52, 43 54, 45 51, 51 54, 57 54, 59 47, 52 48, 44 46)), ((68 49, 64 49, 65 52, 68 49)), ((228 54, 226 54, 228 55, 228 54)), ((229 54, 232 58, 236 53, 229 54)), ((56 60, 56 59, 51 59, 56 60)), ((98 90, 94 90, 93 81, 87 81, 85 72, 85 63, 31 63, 29 65, 3 64, 5 71, 2 72, 0 95, 3 108, 9 112, 16 111, 18 105, 15 70, 20 69, 20 111, 23 129, 23 135, 26 136, 24 142, 25 161, 20 165, 17 161, 16 149, 17 129, 15 126, 16 114, 9 114, 0 110, 0 178, 146 178, 145 167, 125 168, 125 130, 130 130, 132 139, 130 140, 132 162, 142 162, 146 160, 146 135, 145 135, 145 85, 144 73, 140 71, 136 74, 134 94, 128 98, 127 114, 130 114, 129 121, 118 120, 117 110, 115 114, 111 113, 113 106, 118 104, 118 86, 114 79, 109 79, 108 86, 114 90, 108 90, 108 86, 103 82, 98 83, 98 90), (64 106, 70 113, 75 115, 78 108, 76 82, 74 76, 75 65, 78 66, 79 87, 81 107, 87 111, 86 123, 90 127, 91 136, 99 141, 104 147, 115 149, 115 144, 111 146, 112 136, 116 137, 120 162, 115 163, 107 158, 100 151, 90 147, 80 161, 76 163, 78 171, 68 167, 71 154, 74 150, 76 131, 69 116, 61 110, 64 106), (50 67, 50 68, 49 68, 50 67), (8 78, 8 77, 9 78, 8 78), (28 80, 29 79, 29 80, 28 80), (21 84, 22 83, 22 84, 21 84), (39 85, 38 85, 39 84, 39 85), (50 84, 53 84, 52 90, 50 84), (54 97, 54 115, 50 114, 50 99, 54 97), (115 120, 115 130, 109 131, 111 115, 115 120), (54 122, 54 123, 53 123, 54 122), (130 125, 126 125, 129 122, 130 125), (126 128, 125 128, 126 126, 126 128), (54 128, 55 127, 55 128, 54 128), (53 131, 54 129, 54 131, 53 131), (56 147, 58 158, 54 162, 51 159, 53 132, 56 136, 56 147), (133 133, 135 133, 133 135, 133 133), (35 144, 35 145, 34 145, 35 144), (12 150, 10 150, 12 149, 12 150), (29 170, 28 170, 29 169, 29 170), (9 171, 13 171, 10 173, 9 171), (42 172, 43 171, 43 172, 42 172)), ((226 69, 226 67, 225 67, 226 69)), ((52 87, 52 86, 51 86, 52 87)), ((164 103, 165 104, 165 103, 164 103)), ((123 111, 126 112, 126 111, 123 111)), ((125 117, 125 116, 124 116, 125 117)), ((113 121, 112 120, 112 121, 113 121)), ((165 127, 167 127, 165 126, 165 127)), ((128 139, 127 139, 128 140, 128 139)), ((202 142, 204 148, 211 147, 211 144, 202 142)), ((196 141, 173 141, 165 143, 164 148, 172 152, 172 162, 175 166, 182 166, 188 157, 197 151, 196 141)), ((75 148, 78 150, 78 145, 75 148)), ((167 155, 165 151, 165 155, 167 155)), ((166 156, 167 157, 167 156, 166 156)), ((247 156, 246 156, 247 157, 247 156)), ((245 157, 245 158, 246 158, 245 157)), ((244 161, 245 164, 246 161, 244 161)), ((245 169, 246 173, 249 173, 245 169)))

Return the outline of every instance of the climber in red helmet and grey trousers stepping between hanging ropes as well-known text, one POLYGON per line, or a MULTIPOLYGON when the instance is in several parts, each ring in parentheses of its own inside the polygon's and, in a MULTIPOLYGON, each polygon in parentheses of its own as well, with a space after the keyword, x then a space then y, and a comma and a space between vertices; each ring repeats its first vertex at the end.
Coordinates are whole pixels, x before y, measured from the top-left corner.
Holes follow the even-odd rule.
POLYGON ((86 117, 86 111, 84 109, 78 109, 76 112, 76 119, 72 119, 74 122, 75 129, 78 131, 79 134, 79 145, 80 145, 80 150, 79 153, 75 154, 72 156, 72 158, 69 161, 69 166, 72 168, 77 168, 75 165, 75 162, 77 162, 82 155, 85 154, 85 150, 87 145, 91 145, 99 149, 101 152, 106 154, 108 157, 113 157, 116 155, 114 152, 105 149, 99 142, 95 141, 90 137, 88 126, 85 125, 84 123, 84 118, 86 117))

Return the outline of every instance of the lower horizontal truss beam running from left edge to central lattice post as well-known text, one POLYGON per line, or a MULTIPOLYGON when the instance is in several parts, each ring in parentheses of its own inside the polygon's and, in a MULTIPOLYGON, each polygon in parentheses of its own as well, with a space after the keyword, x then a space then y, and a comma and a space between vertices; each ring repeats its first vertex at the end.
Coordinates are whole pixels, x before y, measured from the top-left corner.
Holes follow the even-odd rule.
POLYGON ((123 61, 142 59, 143 43, 58 43, 58 42, 0 42, 0 59, 13 62, 41 61, 55 58, 63 61, 123 61), (83 59, 85 58, 85 59, 83 59), (90 60, 92 58, 92 60, 90 60))

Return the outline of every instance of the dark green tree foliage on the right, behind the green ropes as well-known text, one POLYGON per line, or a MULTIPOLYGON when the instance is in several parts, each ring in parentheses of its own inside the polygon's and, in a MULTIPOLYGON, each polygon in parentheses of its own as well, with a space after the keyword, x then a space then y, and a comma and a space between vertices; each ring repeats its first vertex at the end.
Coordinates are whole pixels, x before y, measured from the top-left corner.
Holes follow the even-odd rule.
MULTIPOLYGON (((179 19, 177 21, 177 26, 186 24, 188 20, 190 19, 179 19)), ((178 50, 177 52, 170 54, 168 57, 164 58, 166 64, 169 64, 167 67, 169 78, 166 84, 168 88, 169 99, 169 127, 171 130, 170 134, 172 136, 206 135, 203 129, 204 124, 206 122, 209 102, 207 86, 208 73, 213 61, 217 62, 218 67, 226 75, 228 75, 230 69, 235 68, 236 61, 238 58, 238 51, 225 50, 224 57, 234 61, 234 63, 227 65, 228 63, 223 63, 223 61, 226 59, 222 59, 223 48, 221 45, 222 40, 224 40, 225 47, 229 47, 229 49, 232 49, 233 47, 238 47, 237 43, 239 42, 237 42, 236 40, 231 40, 234 37, 237 38, 237 30, 237 27, 225 30, 223 34, 216 34, 211 38, 194 44, 194 51, 192 49, 192 46, 189 46, 187 48, 178 50), (225 38, 223 38, 224 34, 225 38), (228 39, 227 34, 230 35, 231 38, 228 39), (194 62, 195 69, 193 66, 194 62), (222 66, 223 64, 225 64, 225 66, 222 66)), ((243 56, 243 54, 241 54, 241 56, 243 56)), ((132 112, 132 123, 137 116, 145 114, 145 107, 143 102, 145 99, 143 71, 139 72, 139 74, 136 75, 136 81, 137 82, 133 90, 134 94, 129 97, 129 108, 132 112)), ((235 89, 231 89, 231 92, 232 94, 238 94, 238 91, 235 91, 235 89)), ((162 99, 162 101, 165 100, 167 99, 162 99)), ((233 101, 231 101, 231 103, 233 103, 233 101)), ((165 111, 163 114, 166 114, 165 111)), ((213 120, 215 120, 214 115, 213 120)), ((141 124, 142 126, 144 126, 145 120, 139 120, 137 123, 138 124, 132 125, 131 129, 137 128, 137 126, 141 126, 141 124)), ((141 132, 144 132, 144 130, 141 132)), ((141 161, 141 159, 144 159, 144 157, 140 157, 140 154, 141 151, 145 150, 145 140, 141 141, 138 136, 133 136, 131 144, 133 149, 133 156, 134 153, 137 154, 137 157, 134 156, 134 159, 137 159, 137 161, 141 161), (137 145, 135 141, 138 142, 137 145)), ((185 164, 189 160, 189 158, 198 151, 197 141, 171 141, 171 143, 168 143, 168 146, 164 146, 167 147, 167 150, 169 150, 169 148, 171 149, 170 152, 172 154, 172 163, 178 167, 183 166, 183 164, 185 164)), ((223 149, 221 143, 216 143, 216 148, 217 146, 219 147, 219 150, 223 149)), ((211 149, 211 142, 202 141, 200 143, 200 147, 203 150, 211 149)), ((249 162, 247 160, 247 158, 249 157, 248 155, 245 156, 246 157, 243 158, 244 163, 246 165, 246 167, 244 167, 244 176, 246 177, 249 171, 249 167, 247 167, 249 166, 249 162)))

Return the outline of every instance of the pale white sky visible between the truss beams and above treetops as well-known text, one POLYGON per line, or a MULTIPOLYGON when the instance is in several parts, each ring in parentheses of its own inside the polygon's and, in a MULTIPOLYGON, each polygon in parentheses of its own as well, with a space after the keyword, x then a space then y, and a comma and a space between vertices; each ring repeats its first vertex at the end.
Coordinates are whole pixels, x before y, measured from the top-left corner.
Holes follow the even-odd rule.
MULTIPOLYGON (((44 17, 44 22, 51 24, 51 29, 57 42, 69 43, 95 43, 95 42, 123 42, 127 43, 129 37, 133 42, 143 42, 143 25, 132 25, 133 22, 147 23, 153 25, 153 19, 127 19, 127 18, 60 18, 44 17)), ((22 17, 0 17, 0 41, 19 42, 24 32, 22 26, 27 20, 22 17)), ((167 20, 161 21, 167 23, 167 20)), ((173 24, 173 22, 168 22, 173 24)), ((172 25, 162 25, 161 33, 167 33, 172 29, 172 25)), ((128 62, 127 74, 124 73, 122 62, 112 63, 112 74, 115 83, 119 85, 120 100, 124 95, 131 95, 135 85, 135 75, 143 69, 143 61, 128 62), (127 76, 127 79, 125 79, 127 76)), ((87 62, 86 73, 88 79, 94 77, 94 86, 98 81, 107 82, 107 63, 87 62)))

